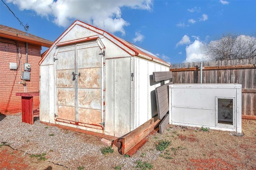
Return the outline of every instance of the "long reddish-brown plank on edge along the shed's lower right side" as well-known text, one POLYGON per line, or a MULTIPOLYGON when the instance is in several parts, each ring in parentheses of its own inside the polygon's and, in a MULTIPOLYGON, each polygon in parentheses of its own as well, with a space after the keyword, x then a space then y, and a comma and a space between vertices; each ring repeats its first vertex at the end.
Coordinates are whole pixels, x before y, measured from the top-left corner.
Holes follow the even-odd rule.
POLYGON ((137 145, 144 137, 153 131, 159 123, 160 120, 158 119, 158 116, 156 116, 122 137, 122 154, 126 154, 130 149, 137 145))

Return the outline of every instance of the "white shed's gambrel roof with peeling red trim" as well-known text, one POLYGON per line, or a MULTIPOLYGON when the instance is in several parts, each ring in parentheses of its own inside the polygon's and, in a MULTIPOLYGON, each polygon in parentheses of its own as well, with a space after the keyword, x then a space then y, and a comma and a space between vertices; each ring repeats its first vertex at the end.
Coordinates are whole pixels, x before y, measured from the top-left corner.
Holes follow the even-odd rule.
POLYGON ((46 51, 43 55, 42 55, 42 59, 39 62, 39 64, 42 63, 42 61, 44 61, 44 59, 46 58, 47 54, 52 50, 52 48, 55 45, 61 46, 61 45, 66 45, 66 44, 71 44, 71 43, 78 43, 78 42, 82 42, 82 41, 87 41, 90 39, 97 39, 98 37, 92 36, 92 37, 86 37, 85 39, 77 39, 77 40, 72 40, 72 41, 68 41, 68 42, 64 42, 64 43, 58 43, 69 31, 70 29, 72 29, 75 25, 80 25, 81 27, 84 27, 86 29, 89 29, 91 31, 96 32, 98 35, 103 35, 105 38, 107 38, 108 40, 110 40, 112 43, 114 43, 115 45, 117 45, 118 47, 120 47, 121 49, 123 49, 124 51, 126 51, 128 54, 130 54, 131 56, 135 57, 141 57, 144 59, 147 59, 149 61, 154 61, 156 63, 160 63, 163 64, 165 66, 169 66, 170 64, 163 61, 162 59, 156 57, 156 55, 150 53, 149 51, 146 51, 128 41, 125 41, 124 39, 121 39, 120 37, 117 37, 111 33, 108 33, 102 29, 99 29, 97 27, 94 27, 92 25, 89 25, 87 23, 84 23, 82 21, 74 21, 74 23, 72 25, 70 25, 70 27, 68 27, 68 29, 66 29, 66 31, 64 33, 62 33, 62 35, 60 35, 60 37, 58 37, 58 39, 56 41, 54 41, 54 43, 52 44, 52 46, 48 49, 48 51, 46 51))

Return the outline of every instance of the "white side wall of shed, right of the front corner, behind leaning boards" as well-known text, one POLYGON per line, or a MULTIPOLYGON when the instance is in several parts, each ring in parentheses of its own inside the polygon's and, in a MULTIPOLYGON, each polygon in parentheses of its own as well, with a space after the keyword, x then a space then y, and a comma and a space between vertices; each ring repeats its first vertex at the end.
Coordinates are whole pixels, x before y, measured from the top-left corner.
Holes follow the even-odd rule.
MULTIPOLYGON (((155 88, 160 82, 153 82, 153 72, 168 71, 169 67, 135 57, 135 119, 136 128, 157 115, 155 88)), ((166 82, 169 82, 167 80, 166 82)))

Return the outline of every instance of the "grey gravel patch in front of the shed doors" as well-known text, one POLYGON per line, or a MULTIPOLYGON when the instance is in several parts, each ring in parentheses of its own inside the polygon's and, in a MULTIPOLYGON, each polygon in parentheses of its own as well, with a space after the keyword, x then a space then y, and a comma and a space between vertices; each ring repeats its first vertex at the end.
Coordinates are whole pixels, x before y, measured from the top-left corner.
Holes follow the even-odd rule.
MULTIPOLYGON (((6 143, 15 150, 27 154, 46 153, 49 162, 68 169, 114 169, 122 164, 122 169, 134 169, 136 160, 156 160, 160 154, 149 150, 145 158, 132 156, 125 158, 118 152, 105 156, 100 149, 106 147, 99 137, 47 126, 35 121, 34 125, 22 123, 21 113, 16 115, 0 114, 0 143, 6 143)), ((138 152, 138 155, 141 153, 138 152)))

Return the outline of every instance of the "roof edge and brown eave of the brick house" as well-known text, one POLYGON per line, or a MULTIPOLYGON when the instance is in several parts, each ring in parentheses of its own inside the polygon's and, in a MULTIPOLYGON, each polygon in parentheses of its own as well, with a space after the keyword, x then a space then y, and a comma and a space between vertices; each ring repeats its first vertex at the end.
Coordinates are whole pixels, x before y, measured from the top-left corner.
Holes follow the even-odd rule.
POLYGON ((8 27, 6 25, 0 25, 0 38, 13 39, 16 41, 27 42, 43 47, 50 47, 53 43, 50 40, 38 37, 30 33, 27 33, 26 35, 26 32, 20 31, 19 29, 15 29, 12 27, 8 27))

